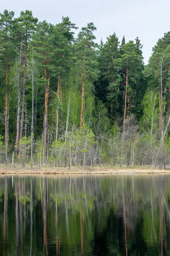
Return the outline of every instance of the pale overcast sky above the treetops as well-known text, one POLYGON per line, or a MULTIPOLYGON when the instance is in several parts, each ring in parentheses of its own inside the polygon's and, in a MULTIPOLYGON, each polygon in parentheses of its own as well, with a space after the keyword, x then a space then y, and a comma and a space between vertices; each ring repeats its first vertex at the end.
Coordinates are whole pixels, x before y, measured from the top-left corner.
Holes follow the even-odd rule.
POLYGON ((119 41, 125 35, 126 42, 137 36, 143 46, 144 62, 152 53, 152 47, 164 33, 170 31, 170 0, 6 0, 0 1, 0 12, 31 10, 33 16, 49 23, 61 22, 68 16, 81 28, 93 22, 97 28, 96 41, 105 42, 116 32, 119 41))

